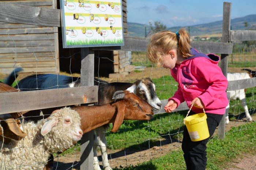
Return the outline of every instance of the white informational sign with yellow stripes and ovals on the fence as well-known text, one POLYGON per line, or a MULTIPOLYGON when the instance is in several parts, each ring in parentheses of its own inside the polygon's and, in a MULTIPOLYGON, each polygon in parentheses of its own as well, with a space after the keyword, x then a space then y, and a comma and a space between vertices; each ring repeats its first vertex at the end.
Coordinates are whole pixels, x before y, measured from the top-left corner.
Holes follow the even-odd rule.
POLYGON ((123 46, 122 0, 60 0, 63 48, 123 46))

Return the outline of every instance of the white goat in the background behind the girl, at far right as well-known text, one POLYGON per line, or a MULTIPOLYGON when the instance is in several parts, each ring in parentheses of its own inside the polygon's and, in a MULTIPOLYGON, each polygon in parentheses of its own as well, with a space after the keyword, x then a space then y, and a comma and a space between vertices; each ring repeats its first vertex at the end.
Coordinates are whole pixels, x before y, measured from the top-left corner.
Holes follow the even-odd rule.
MULTIPOLYGON (((249 69, 242 69, 247 72, 242 72, 242 73, 227 73, 227 80, 232 81, 232 80, 242 80, 242 79, 250 79, 256 76, 256 72, 249 70, 249 69)), ((249 110, 246 104, 246 98, 245 98, 245 91, 246 89, 240 89, 240 90, 233 90, 233 91, 227 91, 230 92, 230 100, 236 100, 239 99, 240 103, 242 104, 242 107, 244 108, 245 111, 245 116, 248 122, 252 121, 252 117, 249 114, 249 110)), ((226 107, 226 124, 229 123, 229 105, 226 107)))

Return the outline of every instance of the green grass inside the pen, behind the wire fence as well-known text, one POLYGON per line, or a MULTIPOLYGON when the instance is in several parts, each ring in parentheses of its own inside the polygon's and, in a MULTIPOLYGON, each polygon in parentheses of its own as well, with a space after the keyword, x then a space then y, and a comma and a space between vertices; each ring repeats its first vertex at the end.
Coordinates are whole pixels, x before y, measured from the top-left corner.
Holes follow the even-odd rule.
MULTIPOLYGON (((153 79, 159 99, 168 99, 177 90, 177 82, 171 76, 153 79)), ((246 91, 248 108, 256 108, 254 88, 246 91)), ((230 118, 236 119, 234 113, 244 112, 238 100, 231 101, 230 118), (237 103, 237 104, 236 104, 237 103), (235 105, 236 104, 236 105, 235 105)), ((183 119, 187 111, 154 115, 150 121, 126 120, 117 133, 106 133, 109 149, 139 149, 148 145, 158 145, 162 140, 180 139, 182 137, 183 119)), ((237 115, 237 114, 236 114, 237 115)), ((110 124, 110 128, 112 124, 110 124)), ((109 129, 110 130, 110 129, 109 129)))

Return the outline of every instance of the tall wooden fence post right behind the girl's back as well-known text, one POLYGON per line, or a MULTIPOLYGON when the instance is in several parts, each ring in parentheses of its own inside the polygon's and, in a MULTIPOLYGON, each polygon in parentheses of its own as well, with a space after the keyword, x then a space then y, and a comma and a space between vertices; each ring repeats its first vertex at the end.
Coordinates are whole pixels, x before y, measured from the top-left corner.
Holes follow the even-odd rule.
MULTIPOLYGON (((228 43, 229 30, 231 20, 231 3, 223 3, 223 21, 222 21, 222 43, 228 43)), ((229 54, 221 54, 221 70, 227 77, 227 64, 229 54)), ((220 139, 225 138, 225 115, 221 119, 218 127, 218 135, 220 139)))

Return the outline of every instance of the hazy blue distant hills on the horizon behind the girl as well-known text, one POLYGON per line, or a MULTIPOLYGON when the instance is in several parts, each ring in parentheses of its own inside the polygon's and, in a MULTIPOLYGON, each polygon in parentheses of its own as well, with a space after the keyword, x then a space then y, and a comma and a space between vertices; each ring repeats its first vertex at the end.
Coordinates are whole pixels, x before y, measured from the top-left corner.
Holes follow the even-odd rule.
MULTIPOLYGON (((231 29, 233 30, 243 30, 245 29, 244 22, 248 23, 248 28, 256 27, 256 14, 247 15, 245 17, 231 19, 231 29)), ((127 23, 128 24, 128 36, 139 36, 145 37, 145 27, 146 31, 150 30, 149 25, 139 24, 139 23, 127 23)), ((190 31, 190 35, 206 35, 206 34, 214 34, 214 33, 222 33, 222 20, 215 21, 206 24, 192 25, 187 26, 185 28, 190 31)), ((178 31, 182 27, 170 27, 167 28, 172 32, 178 31)))

